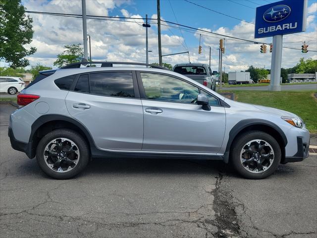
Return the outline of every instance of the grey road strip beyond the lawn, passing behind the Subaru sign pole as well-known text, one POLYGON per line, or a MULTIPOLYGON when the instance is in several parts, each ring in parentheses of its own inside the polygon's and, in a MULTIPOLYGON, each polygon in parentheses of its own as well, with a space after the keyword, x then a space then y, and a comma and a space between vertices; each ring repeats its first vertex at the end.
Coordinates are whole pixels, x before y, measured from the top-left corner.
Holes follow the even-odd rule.
MULTIPOLYGON (((216 91, 218 88, 216 89, 216 91)), ((221 90, 259 90, 267 91, 268 86, 246 86, 246 87, 222 87, 221 90)), ((282 91, 302 91, 302 90, 317 90, 317 84, 294 84, 282 85, 282 91)))

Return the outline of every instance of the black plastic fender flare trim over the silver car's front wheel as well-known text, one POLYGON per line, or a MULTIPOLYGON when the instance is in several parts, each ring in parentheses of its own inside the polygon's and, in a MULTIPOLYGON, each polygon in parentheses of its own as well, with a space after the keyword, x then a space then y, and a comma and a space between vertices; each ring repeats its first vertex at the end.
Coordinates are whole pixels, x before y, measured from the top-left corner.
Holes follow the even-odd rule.
POLYGON ((272 129, 276 130, 277 133, 281 136, 283 143, 284 143, 284 147, 287 145, 287 138, 285 133, 283 132, 283 130, 277 126, 275 123, 269 121, 269 120, 264 120, 264 119, 244 119, 244 120, 240 120, 237 124, 235 124, 230 132, 229 132, 229 139, 227 142, 227 146, 226 146, 226 150, 225 150, 225 154, 224 154, 224 162, 228 163, 229 161, 229 152, 230 152, 230 147, 231 144, 234 140, 234 138, 245 128, 252 126, 252 125, 265 125, 265 126, 269 126, 272 129))

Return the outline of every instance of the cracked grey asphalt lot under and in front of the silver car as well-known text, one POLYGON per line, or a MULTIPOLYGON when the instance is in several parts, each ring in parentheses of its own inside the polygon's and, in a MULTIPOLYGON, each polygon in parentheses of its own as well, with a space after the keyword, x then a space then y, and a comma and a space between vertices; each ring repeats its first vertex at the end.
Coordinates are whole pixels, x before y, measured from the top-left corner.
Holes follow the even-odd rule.
POLYGON ((316 238, 317 156, 242 179, 214 161, 95 159, 47 177, 11 148, 0 105, 1 238, 316 238))

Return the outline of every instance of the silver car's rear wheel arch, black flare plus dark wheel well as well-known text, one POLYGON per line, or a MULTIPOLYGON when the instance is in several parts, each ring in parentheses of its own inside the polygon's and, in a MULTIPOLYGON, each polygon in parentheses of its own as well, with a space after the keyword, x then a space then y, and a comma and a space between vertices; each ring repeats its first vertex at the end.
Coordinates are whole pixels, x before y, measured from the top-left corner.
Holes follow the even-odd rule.
POLYGON ((35 157, 37 145, 44 135, 52 130, 60 128, 73 129, 85 139, 89 145, 89 149, 91 149, 91 147, 96 147, 88 129, 78 120, 62 115, 43 115, 36 119, 31 126, 31 134, 29 138, 31 151, 29 157, 35 157))

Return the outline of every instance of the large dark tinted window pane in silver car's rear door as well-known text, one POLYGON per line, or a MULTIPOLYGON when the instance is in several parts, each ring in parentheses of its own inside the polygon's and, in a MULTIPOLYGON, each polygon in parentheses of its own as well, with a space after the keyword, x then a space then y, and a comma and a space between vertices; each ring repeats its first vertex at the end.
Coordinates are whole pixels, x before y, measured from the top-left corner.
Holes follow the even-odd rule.
POLYGON ((90 93, 102 96, 134 98, 132 72, 100 72, 89 76, 90 93))

